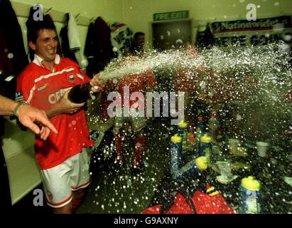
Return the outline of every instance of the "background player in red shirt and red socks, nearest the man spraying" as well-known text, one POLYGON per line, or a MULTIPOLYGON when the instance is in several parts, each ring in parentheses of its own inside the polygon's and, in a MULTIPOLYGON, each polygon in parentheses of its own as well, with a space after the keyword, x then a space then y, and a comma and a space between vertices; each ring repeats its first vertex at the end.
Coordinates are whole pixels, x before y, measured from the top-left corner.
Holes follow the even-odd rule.
MULTIPOLYGON (((133 57, 133 61, 135 58, 133 57)), ((126 121, 130 122, 131 129, 134 130, 134 164, 133 171, 137 173, 141 171, 142 158, 145 152, 146 137, 144 128, 146 127, 146 111, 144 110, 146 100, 144 100, 146 92, 150 91, 153 86, 156 86, 156 78, 153 71, 145 71, 143 73, 131 73, 119 78, 115 89, 121 96, 121 103, 117 105, 117 113, 120 116, 114 117, 114 141, 117 149, 117 161, 119 165, 124 162, 123 142, 124 131, 121 130, 126 121), (135 96, 136 99, 131 99, 137 92, 141 96, 135 96), (125 94, 126 93, 126 94, 125 94), (143 95, 142 95, 143 94, 143 95), (126 100, 124 100, 126 98, 126 100), (126 110, 129 110, 129 115, 126 115, 126 110), (137 115, 137 113, 142 115, 137 115), (136 115, 133 113, 136 113, 136 115)))

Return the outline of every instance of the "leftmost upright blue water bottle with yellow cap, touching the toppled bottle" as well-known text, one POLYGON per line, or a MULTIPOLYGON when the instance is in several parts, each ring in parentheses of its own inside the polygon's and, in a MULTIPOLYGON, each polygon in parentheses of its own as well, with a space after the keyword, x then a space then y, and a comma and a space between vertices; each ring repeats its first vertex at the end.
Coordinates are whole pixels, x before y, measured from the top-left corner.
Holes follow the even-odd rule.
POLYGON ((171 137, 171 173, 177 172, 182 166, 182 138, 175 134, 171 137))

